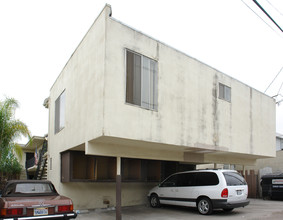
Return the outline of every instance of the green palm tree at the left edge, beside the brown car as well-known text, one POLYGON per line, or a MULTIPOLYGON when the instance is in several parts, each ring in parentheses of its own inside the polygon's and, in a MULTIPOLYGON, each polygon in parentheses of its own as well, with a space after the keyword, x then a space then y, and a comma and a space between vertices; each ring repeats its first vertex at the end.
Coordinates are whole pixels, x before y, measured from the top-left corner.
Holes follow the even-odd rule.
POLYGON ((9 159, 13 152, 22 158, 22 149, 15 142, 23 135, 30 138, 27 126, 20 120, 15 119, 15 110, 19 107, 18 101, 13 98, 6 98, 0 101, 0 159, 9 159))

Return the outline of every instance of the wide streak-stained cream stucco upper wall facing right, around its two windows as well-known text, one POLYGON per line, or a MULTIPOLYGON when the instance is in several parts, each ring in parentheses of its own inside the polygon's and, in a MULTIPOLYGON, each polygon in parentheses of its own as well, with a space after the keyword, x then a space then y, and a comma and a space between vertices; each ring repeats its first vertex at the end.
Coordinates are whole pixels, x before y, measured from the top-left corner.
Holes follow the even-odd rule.
POLYGON ((153 143, 275 156, 275 103, 249 86, 107 20, 104 135, 153 143), (125 50, 158 62, 158 111, 125 103, 125 50), (231 103, 218 84, 231 87, 231 103))

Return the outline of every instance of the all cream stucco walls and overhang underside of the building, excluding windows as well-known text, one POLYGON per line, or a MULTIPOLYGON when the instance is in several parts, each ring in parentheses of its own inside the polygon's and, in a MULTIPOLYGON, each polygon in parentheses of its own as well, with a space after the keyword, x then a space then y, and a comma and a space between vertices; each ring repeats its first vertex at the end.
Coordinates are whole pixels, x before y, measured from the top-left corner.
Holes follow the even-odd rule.
MULTIPOLYGON (((114 184, 61 183, 60 152, 189 161, 252 163, 275 151, 270 97, 109 17, 106 5, 50 91, 48 178, 75 208, 115 201, 114 184), (158 63, 158 110, 125 103, 125 51, 158 63), (231 87, 231 103, 218 84, 231 87), (54 133, 55 100, 66 93, 65 127, 54 133), (208 155, 201 150, 210 151, 208 155)), ((146 183, 122 184, 122 204, 145 202, 146 183), (135 197, 135 201, 133 201, 135 197)))

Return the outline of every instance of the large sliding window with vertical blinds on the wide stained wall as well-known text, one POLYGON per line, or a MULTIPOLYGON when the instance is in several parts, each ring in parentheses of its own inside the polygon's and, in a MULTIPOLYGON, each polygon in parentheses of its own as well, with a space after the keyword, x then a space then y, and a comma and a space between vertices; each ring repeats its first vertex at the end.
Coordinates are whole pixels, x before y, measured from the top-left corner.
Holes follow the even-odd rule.
POLYGON ((157 110, 157 62, 126 51, 126 102, 157 110))

